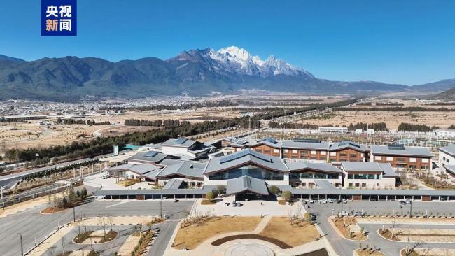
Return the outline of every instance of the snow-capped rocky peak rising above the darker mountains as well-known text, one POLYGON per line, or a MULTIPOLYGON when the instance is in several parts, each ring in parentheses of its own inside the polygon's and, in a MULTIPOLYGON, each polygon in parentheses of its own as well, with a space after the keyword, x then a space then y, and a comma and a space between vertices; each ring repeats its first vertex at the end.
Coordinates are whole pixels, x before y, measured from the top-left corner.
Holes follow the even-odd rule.
POLYGON ((229 72, 241 75, 260 76, 262 78, 278 75, 308 76, 314 78, 308 71, 292 66, 282 59, 276 59, 273 55, 262 60, 258 56, 251 55, 244 48, 238 48, 237 46, 221 48, 218 51, 211 48, 190 50, 189 52, 185 51, 179 56, 170 59, 170 61, 190 59, 197 61, 204 60, 212 69, 221 73, 229 72))

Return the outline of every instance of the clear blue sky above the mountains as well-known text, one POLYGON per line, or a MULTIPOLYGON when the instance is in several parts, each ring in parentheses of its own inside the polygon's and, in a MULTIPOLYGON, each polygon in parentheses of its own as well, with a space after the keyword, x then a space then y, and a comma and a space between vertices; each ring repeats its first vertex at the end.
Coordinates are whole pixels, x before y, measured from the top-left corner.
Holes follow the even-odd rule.
POLYGON ((455 78, 455 1, 78 0, 75 37, 40 35, 40 0, 0 1, 0 54, 25 60, 168 59, 231 45, 330 80, 455 78))

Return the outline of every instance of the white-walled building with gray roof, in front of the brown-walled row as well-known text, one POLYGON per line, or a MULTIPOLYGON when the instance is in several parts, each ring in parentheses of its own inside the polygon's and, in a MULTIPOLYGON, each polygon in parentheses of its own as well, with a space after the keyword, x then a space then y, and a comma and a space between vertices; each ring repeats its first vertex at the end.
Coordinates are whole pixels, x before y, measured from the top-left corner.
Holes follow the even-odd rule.
POLYGON ((378 162, 342 162, 344 187, 360 189, 393 189, 398 174, 391 164, 378 162))

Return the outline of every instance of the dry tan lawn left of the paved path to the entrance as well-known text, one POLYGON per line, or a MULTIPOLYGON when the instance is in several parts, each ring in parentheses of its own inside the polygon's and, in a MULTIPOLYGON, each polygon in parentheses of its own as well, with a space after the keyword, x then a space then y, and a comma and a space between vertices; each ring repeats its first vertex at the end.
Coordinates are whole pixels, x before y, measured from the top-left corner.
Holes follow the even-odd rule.
POLYGON ((179 229, 172 246, 176 249, 190 250, 218 234, 230 232, 252 232, 258 226, 260 217, 210 217, 195 225, 188 223, 179 229))

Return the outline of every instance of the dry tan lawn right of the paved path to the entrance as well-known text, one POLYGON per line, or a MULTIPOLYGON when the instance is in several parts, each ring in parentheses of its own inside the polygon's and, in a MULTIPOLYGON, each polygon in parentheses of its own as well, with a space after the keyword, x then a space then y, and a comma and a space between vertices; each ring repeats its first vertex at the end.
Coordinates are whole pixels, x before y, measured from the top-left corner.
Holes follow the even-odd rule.
POLYGON ((319 232, 316 227, 308 222, 290 225, 287 217, 273 217, 260 232, 260 235, 279 239, 289 246, 295 247, 315 241, 319 237, 319 232))

